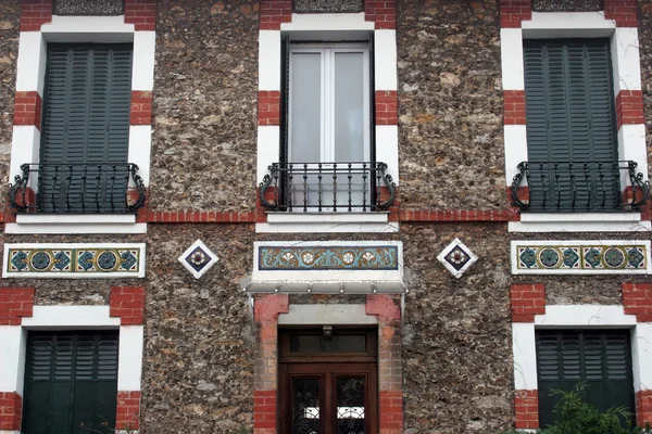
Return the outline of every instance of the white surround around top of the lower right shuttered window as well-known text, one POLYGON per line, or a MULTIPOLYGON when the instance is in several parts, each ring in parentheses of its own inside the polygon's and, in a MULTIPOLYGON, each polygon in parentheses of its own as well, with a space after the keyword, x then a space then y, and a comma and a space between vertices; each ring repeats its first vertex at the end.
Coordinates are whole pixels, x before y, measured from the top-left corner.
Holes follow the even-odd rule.
POLYGON ((631 329, 631 357, 634 388, 636 392, 652 388, 652 324, 637 323, 636 316, 625 315, 623 306, 552 305, 544 315, 536 315, 534 323, 512 323, 514 354, 514 385, 517 391, 537 390, 537 329, 613 328, 631 329))

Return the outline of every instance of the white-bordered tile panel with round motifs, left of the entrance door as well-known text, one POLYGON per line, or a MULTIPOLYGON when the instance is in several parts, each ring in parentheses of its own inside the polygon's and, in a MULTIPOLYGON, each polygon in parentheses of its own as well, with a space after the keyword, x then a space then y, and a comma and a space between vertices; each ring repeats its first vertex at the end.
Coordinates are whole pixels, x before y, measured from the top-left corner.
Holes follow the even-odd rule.
POLYGON ((145 277, 145 244, 5 244, 4 278, 145 277))

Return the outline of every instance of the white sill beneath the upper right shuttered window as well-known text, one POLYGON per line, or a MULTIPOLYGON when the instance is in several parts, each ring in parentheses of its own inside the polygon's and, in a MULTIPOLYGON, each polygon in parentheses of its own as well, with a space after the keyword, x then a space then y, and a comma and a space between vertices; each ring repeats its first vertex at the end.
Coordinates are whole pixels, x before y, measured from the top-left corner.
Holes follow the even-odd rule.
POLYGON ((510 232, 644 232, 650 221, 640 213, 523 213, 510 232))

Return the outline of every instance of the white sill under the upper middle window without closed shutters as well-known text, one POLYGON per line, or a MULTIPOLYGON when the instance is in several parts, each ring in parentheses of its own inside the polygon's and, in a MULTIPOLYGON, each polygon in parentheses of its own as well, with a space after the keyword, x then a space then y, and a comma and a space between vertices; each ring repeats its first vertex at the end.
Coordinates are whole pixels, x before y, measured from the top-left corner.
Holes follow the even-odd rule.
POLYGON ((259 233, 392 233, 399 224, 388 221, 389 213, 267 213, 266 224, 256 224, 259 233))

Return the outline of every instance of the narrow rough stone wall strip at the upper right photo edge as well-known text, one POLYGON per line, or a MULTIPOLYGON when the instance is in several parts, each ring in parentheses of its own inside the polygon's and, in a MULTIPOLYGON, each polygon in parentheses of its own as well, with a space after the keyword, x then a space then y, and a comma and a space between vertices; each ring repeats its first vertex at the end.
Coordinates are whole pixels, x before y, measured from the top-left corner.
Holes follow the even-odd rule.
POLYGON ((641 79, 648 126, 648 177, 652 178, 652 0, 638 0, 641 79))

